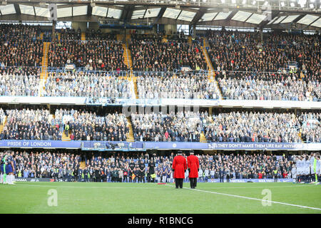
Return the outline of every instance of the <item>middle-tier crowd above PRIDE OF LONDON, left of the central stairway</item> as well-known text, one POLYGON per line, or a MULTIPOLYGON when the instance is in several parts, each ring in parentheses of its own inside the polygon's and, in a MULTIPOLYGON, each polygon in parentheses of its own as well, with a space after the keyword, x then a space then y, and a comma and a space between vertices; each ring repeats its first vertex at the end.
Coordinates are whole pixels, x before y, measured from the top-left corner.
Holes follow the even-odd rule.
POLYGON ((84 110, 49 110, 24 108, 0 110, 4 129, 1 140, 61 140, 63 133, 71 140, 126 141, 129 132, 125 115, 99 116, 84 110), (4 124, 4 115, 6 123, 4 124))

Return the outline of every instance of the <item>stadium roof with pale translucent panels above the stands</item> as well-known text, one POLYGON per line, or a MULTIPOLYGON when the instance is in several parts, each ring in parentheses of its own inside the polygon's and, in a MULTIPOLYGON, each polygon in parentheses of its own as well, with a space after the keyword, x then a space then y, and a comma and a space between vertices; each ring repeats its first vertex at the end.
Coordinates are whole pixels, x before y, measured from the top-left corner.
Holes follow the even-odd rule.
MULTIPOLYGON (((50 1, 58 21, 190 24, 320 30, 319 0, 113 0, 50 1), (304 1, 304 2, 303 2, 304 1)), ((8 0, 0 5, 0 21, 48 21, 49 1, 8 0)))

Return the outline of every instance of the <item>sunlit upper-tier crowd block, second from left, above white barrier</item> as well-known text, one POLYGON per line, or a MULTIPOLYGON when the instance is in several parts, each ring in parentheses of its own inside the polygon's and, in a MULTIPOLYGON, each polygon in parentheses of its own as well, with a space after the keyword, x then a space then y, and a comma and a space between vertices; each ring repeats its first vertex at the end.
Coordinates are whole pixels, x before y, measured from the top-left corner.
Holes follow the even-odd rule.
POLYGON ((45 96, 131 98, 131 84, 117 73, 50 72, 45 96))

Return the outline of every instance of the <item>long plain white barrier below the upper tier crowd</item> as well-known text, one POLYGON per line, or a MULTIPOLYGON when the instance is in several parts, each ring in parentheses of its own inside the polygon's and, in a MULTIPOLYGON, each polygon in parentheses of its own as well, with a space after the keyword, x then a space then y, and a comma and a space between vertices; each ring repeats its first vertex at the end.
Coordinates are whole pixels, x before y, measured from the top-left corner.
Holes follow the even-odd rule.
POLYGON ((52 104, 52 105, 186 105, 223 108, 312 108, 321 109, 321 102, 297 100, 210 100, 210 99, 133 99, 133 98, 86 98, 86 97, 28 97, 0 96, 0 103, 52 104))

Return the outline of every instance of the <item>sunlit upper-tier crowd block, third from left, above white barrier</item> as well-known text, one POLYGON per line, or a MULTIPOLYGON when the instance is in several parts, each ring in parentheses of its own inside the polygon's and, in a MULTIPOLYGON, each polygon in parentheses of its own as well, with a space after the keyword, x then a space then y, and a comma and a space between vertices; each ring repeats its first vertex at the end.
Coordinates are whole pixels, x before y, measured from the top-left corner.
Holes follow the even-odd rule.
POLYGON ((137 90, 139 98, 219 98, 215 83, 208 79, 208 74, 202 73, 140 76, 137 78, 137 90))

